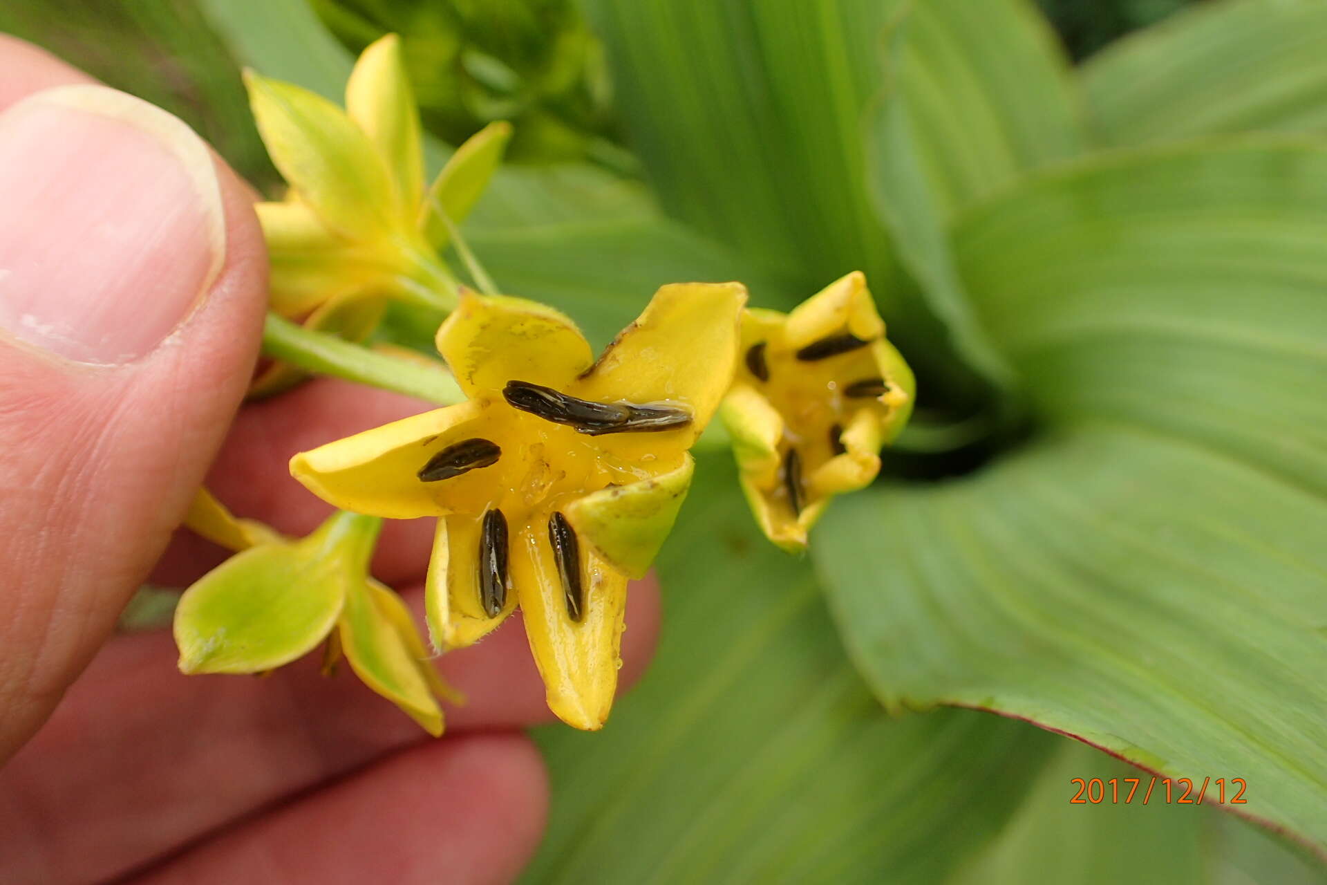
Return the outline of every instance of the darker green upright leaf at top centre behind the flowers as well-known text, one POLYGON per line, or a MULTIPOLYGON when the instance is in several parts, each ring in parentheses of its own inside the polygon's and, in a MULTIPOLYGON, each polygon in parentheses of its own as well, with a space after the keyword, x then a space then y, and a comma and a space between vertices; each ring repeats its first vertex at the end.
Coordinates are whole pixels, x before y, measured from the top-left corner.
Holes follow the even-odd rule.
POLYGON ((665 210, 799 280, 896 265, 867 199, 861 113, 897 0, 594 0, 626 118, 665 210))

